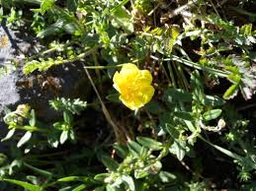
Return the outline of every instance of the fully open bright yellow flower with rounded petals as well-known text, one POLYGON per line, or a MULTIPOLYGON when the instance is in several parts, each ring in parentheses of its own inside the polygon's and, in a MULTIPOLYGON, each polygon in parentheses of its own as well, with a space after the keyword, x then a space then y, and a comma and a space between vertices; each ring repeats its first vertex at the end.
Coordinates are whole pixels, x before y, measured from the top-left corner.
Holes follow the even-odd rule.
POLYGON ((150 72, 139 70, 134 64, 125 64, 120 72, 115 73, 113 81, 120 99, 131 110, 143 106, 154 95, 150 72))

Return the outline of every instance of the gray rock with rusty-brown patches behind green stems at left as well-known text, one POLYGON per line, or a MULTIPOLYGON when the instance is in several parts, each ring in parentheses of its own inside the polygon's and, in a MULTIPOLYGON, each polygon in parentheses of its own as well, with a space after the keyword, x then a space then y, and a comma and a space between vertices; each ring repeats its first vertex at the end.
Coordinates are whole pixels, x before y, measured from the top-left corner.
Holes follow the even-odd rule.
MULTIPOLYGON (((0 28, 0 38, 7 36, 7 42, 0 47, 0 65, 7 66, 8 60, 19 59, 21 54, 35 53, 35 40, 25 33, 21 35, 21 32, 7 32, 0 28)), ((53 122, 61 117, 61 113, 56 113, 49 107, 49 99, 57 96, 85 99, 89 87, 83 67, 79 63, 55 66, 46 72, 35 72, 29 76, 25 76, 22 67, 18 67, 10 74, 0 77, 0 105, 14 110, 19 104, 29 103, 35 108, 38 118, 46 123, 53 122)), ((2 127, 0 134, 1 129, 2 127)))

